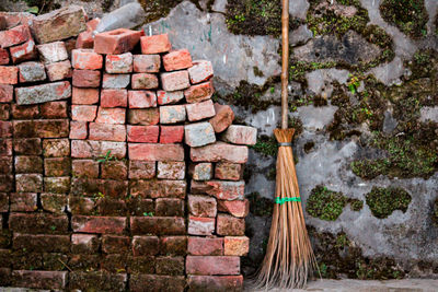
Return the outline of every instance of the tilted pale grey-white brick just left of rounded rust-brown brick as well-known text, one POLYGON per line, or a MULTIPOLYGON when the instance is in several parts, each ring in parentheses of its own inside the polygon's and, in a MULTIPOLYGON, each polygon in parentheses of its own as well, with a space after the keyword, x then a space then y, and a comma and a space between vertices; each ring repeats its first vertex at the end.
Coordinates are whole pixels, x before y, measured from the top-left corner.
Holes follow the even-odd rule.
POLYGON ((185 143, 192 148, 216 142, 215 130, 208 121, 185 125, 184 138, 185 143))

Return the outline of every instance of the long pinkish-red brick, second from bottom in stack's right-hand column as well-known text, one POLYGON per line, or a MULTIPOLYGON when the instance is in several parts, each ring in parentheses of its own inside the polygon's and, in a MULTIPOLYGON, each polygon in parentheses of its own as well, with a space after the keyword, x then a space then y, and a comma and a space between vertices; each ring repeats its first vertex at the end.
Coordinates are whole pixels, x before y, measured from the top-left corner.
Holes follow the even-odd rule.
POLYGON ((240 257, 231 256, 187 256, 188 275, 239 275, 240 257))

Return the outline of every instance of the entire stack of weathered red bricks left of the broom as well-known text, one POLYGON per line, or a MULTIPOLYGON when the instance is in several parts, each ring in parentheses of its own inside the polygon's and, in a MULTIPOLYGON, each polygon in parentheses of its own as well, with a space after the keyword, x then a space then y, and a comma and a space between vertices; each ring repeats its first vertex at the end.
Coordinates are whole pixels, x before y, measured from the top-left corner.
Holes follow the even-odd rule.
POLYGON ((0 287, 240 291, 256 130, 209 61, 85 20, 0 14, 0 287))

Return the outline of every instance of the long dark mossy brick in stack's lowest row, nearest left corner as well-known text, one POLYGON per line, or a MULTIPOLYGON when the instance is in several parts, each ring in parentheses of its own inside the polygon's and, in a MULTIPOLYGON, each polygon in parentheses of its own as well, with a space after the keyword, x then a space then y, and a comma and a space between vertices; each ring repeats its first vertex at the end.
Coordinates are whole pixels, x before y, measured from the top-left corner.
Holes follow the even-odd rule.
POLYGON ((59 289, 66 288, 67 271, 12 271, 12 285, 34 289, 59 289))

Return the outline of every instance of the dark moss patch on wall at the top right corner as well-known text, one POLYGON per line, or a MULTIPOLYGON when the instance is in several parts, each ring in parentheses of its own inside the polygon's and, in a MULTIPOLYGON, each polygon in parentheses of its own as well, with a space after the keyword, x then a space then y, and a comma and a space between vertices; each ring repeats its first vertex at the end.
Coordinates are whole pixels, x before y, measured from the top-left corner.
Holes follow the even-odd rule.
POLYGON ((424 0, 383 0, 380 13, 383 20, 406 35, 418 38, 427 34, 428 15, 424 0))

